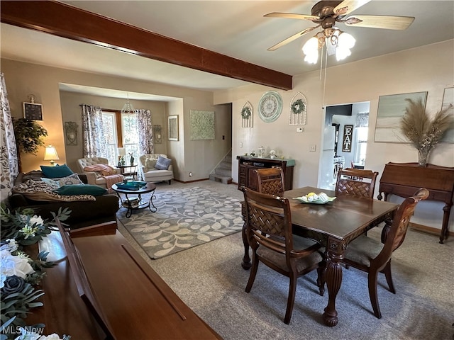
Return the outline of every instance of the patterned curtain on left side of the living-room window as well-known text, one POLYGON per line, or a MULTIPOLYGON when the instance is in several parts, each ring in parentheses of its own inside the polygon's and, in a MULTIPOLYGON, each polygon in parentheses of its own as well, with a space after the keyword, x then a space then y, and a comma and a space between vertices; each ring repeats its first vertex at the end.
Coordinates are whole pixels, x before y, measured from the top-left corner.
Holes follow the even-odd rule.
POLYGON ((84 157, 106 157, 106 137, 102 127, 102 110, 96 106, 82 106, 82 144, 84 157))

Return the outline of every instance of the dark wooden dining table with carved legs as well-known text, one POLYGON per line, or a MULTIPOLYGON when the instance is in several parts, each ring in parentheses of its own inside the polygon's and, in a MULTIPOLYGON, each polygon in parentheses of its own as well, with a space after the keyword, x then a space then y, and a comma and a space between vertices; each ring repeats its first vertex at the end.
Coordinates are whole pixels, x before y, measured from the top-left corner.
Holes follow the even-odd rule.
MULTIPOLYGON (((293 233, 308 237, 323 245, 326 249, 326 285, 328 288, 328 305, 323 312, 323 322, 328 326, 338 324, 336 296, 342 284, 341 261, 348 244, 367 230, 384 222, 382 242, 389 233, 394 213, 398 204, 382 200, 371 200, 347 194, 339 194, 331 190, 306 186, 284 191, 283 197, 289 199, 292 213, 293 233), (336 197, 324 204, 301 203, 295 198, 308 193, 326 193, 328 197, 336 197)), ((245 217, 243 203, 243 217, 245 217)), ((248 269, 251 266, 249 244, 243 226, 243 244, 245 254, 241 265, 248 269)))

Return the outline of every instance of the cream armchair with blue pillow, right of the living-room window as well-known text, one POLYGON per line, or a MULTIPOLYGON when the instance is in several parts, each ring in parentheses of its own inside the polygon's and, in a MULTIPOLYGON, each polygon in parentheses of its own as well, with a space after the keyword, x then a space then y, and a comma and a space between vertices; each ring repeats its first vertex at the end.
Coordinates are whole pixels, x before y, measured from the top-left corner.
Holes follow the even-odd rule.
POLYGON ((172 160, 167 154, 143 154, 139 157, 139 172, 145 182, 168 181, 173 179, 172 160))

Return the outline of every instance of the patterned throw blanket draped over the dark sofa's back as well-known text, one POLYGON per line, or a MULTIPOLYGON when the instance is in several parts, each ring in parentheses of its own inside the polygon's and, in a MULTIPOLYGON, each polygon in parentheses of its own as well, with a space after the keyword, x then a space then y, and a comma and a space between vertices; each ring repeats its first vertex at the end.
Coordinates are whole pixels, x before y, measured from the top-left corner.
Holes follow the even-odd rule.
POLYGON ((33 181, 29 179, 26 183, 20 183, 11 190, 13 193, 21 193, 30 200, 43 201, 78 201, 96 200, 92 195, 60 195, 53 192, 54 188, 43 181, 33 181))

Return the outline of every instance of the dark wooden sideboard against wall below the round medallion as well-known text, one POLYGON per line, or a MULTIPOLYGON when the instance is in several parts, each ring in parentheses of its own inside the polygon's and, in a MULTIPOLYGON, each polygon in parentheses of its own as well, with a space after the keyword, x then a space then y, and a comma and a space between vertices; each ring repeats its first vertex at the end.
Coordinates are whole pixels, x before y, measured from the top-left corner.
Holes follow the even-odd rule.
POLYGON ((257 190, 257 176, 254 174, 254 170, 280 166, 284 171, 285 190, 292 190, 294 159, 255 158, 248 156, 237 156, 236 159, 238 159, 238 189, 241 186, 245 186, 257 190))

